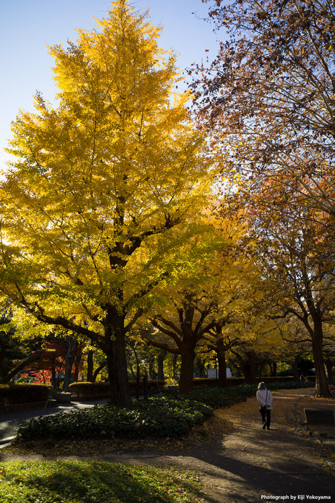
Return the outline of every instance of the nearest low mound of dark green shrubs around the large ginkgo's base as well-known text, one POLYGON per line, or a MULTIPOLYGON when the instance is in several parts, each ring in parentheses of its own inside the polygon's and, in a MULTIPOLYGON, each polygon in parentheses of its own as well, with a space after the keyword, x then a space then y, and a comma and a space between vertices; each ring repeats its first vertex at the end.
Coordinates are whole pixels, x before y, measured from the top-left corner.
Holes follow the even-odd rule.
POLYGON ((212 415, 210 407, 187 399, 134 400, 130 408, 95 405, 91 408, 42 416, 20 426, 17 436, 144 438, 184 435, 212 415))

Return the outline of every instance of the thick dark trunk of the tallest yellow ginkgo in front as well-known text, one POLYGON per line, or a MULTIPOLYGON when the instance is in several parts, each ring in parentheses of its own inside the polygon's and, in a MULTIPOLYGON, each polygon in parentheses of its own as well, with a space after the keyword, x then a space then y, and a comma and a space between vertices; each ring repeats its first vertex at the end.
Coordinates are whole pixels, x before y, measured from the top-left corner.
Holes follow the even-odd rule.
POLYGON ((105 322, 105 350, 109 376, 110 403, 127 407, 131 404, 125 352, 125 320, 117 309, 109 307, 105 322))

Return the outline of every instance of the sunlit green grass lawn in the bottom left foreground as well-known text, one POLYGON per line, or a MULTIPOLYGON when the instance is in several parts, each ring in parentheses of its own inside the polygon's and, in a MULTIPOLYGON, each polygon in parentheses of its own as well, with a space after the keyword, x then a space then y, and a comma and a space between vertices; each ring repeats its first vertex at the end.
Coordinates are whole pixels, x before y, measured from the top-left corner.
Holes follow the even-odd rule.
POLYGON ((2 503, 195 503, 198 477, 175 467, 97 461, 0 464, 2 503))

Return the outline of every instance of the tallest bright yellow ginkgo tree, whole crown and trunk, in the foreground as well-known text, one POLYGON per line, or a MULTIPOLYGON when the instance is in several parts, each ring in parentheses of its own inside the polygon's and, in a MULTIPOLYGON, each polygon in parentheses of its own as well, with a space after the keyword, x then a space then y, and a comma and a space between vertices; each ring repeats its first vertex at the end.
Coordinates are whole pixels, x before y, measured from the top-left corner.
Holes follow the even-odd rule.
POLYGON ((0 187, 3 296, 94 341, 121 405, 126 333, 209 188, 205 143, 159 32, 118 0, 96 29, 51 47, 58 105, 38 93, 36 113, 21 111, 0 187))

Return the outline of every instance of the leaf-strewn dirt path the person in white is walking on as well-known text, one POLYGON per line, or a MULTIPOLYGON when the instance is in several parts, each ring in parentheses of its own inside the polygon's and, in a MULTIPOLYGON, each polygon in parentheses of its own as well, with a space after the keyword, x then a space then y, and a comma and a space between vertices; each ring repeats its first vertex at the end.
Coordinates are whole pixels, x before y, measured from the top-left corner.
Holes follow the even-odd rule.
MULTIPOLYGON (((218 409, 211 423, 211 438, 202 445, 178 449, 104 449, 63 459, 109 460, 130 464, 175 464, 199 473, 205 486, 206 503, 262 503, 290 500, 308 501, 308 496, 335 499, 334 463, 308 432, 289 421, 301 407, 327 406, 333 402, 310 401, 305 390, 274 392, 270 431, 262 430, 256 398, 218 409), (299 408, 300 407, 300 408, 299 408), (213 432, 213 429, 216 432, 213 432), (229 431, 228 431, 229 430, 229 431), (269 497, 266 497, 269 496, 269 497), (271 497, 272 496, 272 497, 271 497)), ((329 427, 331 428, 331 427, 329 427)), ((328 428, 328 431, 329 431, 328 428)), ((333 427, 332 427, 333 428, 333 427)), ((331 432, 330 432, 331 433, 331 432)), ((335 431, 333 432, 335 436, 335 431)), ((328 433, 328 435, 330 435, 328 433)), ((105 446, 104 446, 105 447, 105 446)), ((49 455, 11 455, 14 459, 54 459, 49 455)), ((335 459, 335 458, 334 458, 335 459)), ((309 499, 316 501, 317 499, 309 499)))

